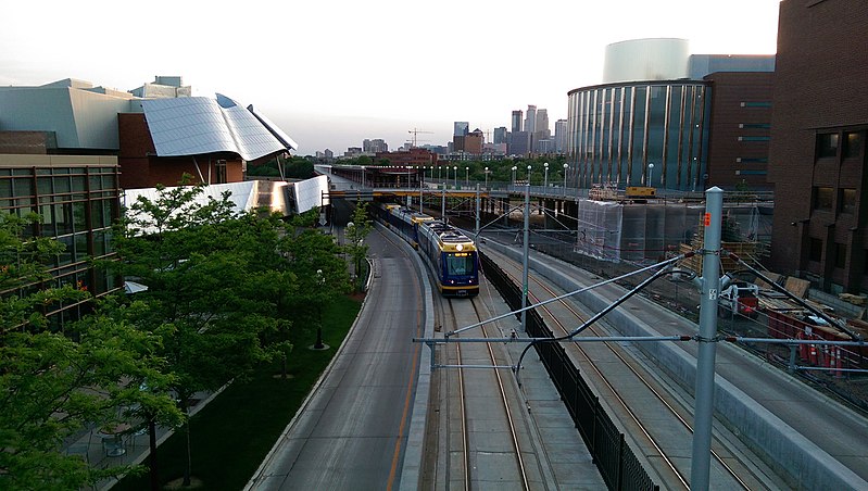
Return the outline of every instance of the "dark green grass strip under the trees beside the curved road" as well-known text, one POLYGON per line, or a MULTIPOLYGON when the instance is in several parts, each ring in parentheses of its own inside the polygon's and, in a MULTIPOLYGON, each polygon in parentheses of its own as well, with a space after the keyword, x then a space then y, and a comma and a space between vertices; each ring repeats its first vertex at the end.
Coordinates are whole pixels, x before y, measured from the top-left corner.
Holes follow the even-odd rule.
MULTIPOLYGON (((287 361, 291 378, 279 377, 279 362, 263 366, 251 380, 232 383, 191 418, 192 475, 202 481, 199 489, 244 487, 331 361, 360 307, 360 300, 344 297, 323 311, 323 341, 331 347, 329 350, 307 349, 316 339, 315 332, 292 340, 294 348, 287 361)), ((186 431, 181 428, 158 449, 163 484, 184 476, 186 455, 186 431)), ((113 489, 149 488, 146 474, 128 477, 113 489)))

